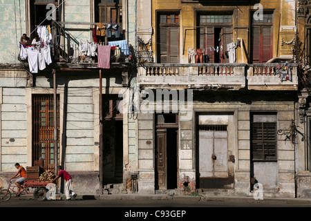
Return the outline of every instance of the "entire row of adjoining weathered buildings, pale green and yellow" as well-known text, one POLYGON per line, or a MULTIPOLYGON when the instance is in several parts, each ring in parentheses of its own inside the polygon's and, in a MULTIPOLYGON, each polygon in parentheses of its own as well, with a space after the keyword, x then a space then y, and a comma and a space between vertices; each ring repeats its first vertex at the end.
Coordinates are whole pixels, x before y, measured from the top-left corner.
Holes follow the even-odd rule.
POLYGON ((81 194, 310 198, 309 1, 20 2, 0 6, 0 188, 42 162, 81 194))

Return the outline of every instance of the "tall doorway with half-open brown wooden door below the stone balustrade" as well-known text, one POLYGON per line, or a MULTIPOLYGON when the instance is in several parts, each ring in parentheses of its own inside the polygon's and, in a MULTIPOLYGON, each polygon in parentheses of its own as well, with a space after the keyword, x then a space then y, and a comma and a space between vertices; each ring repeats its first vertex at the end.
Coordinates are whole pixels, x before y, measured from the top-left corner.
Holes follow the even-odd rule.
POLYGON ((178 188, 178 115, 156 117, 156 190, 178 188))

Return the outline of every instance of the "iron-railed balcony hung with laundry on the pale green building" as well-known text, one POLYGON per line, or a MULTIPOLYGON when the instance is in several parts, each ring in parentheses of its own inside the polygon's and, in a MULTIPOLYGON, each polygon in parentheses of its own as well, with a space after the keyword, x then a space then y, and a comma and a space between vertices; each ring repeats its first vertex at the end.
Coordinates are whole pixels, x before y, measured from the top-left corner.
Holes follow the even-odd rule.
MULTIPOLYGON (((88 24, 94 25, 94 23, 88 24)), ((76 25, 75 31, 80 31, 79 25, 81 24, 76 25)), ((34 33, 35 31, 39 33, 37 28, 33 31, 34 33)), ((122 37, 106 37, 104 41, 95 42, 95 40, 90 39, 77 39, 72 32, 74 33, 74 31, 65 30, 64 24, 54 21, 53 25, 50 26, 50 39, 43 40, 41 36, 38 36, 36 42, 28 41, 27 44, 19 45, 21 49, 19 61, 22 61, 23 66, 28 66, 28 52, 25 49, 38 50, 41 54, 41 50, 44 48, 45 52, 48 51, 48 57, 51 61, 49 64, 47 62, 46 68, 97 68, 100 57, 104 57, 105 61, 109 60, 111 68, 127 67, 133 64, 133 47, 122 37), (32 43, 30 44, 30 42, 32 43), (35 44, 33 44, 34 42, 35 44), (110 53, 105 50, 100 56, 98 52, 100 46, 111 46, 110 53)))

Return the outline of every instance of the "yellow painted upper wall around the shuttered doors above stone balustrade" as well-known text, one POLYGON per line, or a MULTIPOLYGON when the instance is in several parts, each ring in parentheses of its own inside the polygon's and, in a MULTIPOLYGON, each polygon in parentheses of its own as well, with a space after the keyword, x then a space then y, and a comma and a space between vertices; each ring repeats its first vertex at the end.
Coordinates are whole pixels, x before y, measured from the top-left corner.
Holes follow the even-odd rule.
MULTIPOLYGON (((189 2, 189 1, 188 1, 189 2)), ((250 30, 250 12, 254 6, 241 5, 235 6, 235 3, 227 3, 227 6, 213 3, 210 6, 203 6, 202 3, 182 3, 180 0, 164 1, 154 0, 152 1, 152 26, 153 26, 153 57, 156 58, 156 31, 157 31, 157 19, 156 13, 158 11, 180 11, 180 63, 187 63, 187 48, 196 48, 196 34, 194 30, 187 30, 185 34, 185 27, 196 26, 196 11, 233 11, 232 24, 234 27, 234 42, 237 39, 243 39, 245 48, 237 48, 237 61, 238 63, 248 63, 247 46, 249 44, 249 50, 252 48, 250 45, 251 30, 250 30), (231 6, 230 6, 231 5, 231 6), (245 28, 242 28, 245 27, 245 28), (248 28, 248 31, 247 31, 248 28), (185 38, 185 39, 184 39, 185 38), (249 41, 249 43, 247 42, 249 41), (185 46, 184 46, 185 42, 185 46), (185 49, 184 49, 185 48, 185 49), (184 51, 182 51, 184 49, 184 51)), ((227 1, 234 2, 234 1, 227 1)), ((290 41, 295 37, 295 2, 286 0, 265 0, 260 2, 263 6, 263 10, 273 10, 273 57, 279 57, 283 55, 292 55, 292 46, 283 44, 281 46, 281 39, 284 41, 290 41), (281 32, 280 32, 281 30, 281 32)), ((191 28, 189 28, 191 29, 191 28)))

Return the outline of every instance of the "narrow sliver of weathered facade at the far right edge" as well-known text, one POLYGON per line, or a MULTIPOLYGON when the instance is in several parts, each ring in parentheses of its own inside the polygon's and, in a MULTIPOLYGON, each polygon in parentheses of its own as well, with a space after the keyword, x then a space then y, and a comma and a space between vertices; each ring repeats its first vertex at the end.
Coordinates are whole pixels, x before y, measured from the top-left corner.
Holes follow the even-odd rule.
POLYGON ((296 185, 297 197, 310 198, 310 10, 311 1, 297 1, 297 37, 295 54, 299 63, 299 75, 301 78, 301 90, 297 121, 298 144, 296 152, 296 185))

